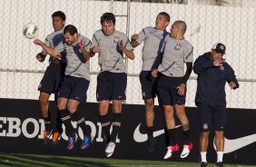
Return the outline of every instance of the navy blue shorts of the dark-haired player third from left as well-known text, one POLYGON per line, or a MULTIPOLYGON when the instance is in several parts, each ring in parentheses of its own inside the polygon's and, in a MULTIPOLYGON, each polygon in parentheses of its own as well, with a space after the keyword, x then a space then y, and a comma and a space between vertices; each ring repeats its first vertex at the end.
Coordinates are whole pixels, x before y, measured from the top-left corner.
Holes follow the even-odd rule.
POLYGON ((97 101, 125 100, 127 74, 102 72, 97 76, 97 101))

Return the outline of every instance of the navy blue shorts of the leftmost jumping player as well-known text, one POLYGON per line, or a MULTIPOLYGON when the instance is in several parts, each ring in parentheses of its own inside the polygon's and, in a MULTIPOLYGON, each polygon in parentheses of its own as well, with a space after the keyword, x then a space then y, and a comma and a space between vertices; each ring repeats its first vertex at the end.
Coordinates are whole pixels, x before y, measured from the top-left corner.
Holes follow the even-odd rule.
POLYGON ((38 85, 38 91, 44 93, 57 93, 60 83, 64 78, 65 64, 50 64, 44 73, 44 77, 38 85))

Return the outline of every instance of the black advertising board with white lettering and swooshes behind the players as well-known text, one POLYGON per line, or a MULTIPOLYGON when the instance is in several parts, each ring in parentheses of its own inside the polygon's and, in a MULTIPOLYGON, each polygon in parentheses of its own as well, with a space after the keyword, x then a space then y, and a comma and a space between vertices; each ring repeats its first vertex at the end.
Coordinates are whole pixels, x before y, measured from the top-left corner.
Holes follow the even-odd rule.
MULTIPOLYGON (((80 110, 84 113, 85 123, 93 127, 95 142, 87 151, 80 151, 77 142, 74 151, 69 152, 66 148, 65 134, 57 145, 43 145, 44 124, 41 117, 38 101, 34 100, 14 100, 0 99, 0 152, 16 153, 36 153, 36 154, 56 154, 85 157, 104 158, 105 143, 103 142, 101 127, 98 121, 98 104, 86 103, 80 110)), ((53 120, 55 117, 55 104, 51 102, 53 120)), ((199 123, 198 111, 196 108, 186 108, 189 117, 192 142, 194 148, 188 158, 182 160, 182 128, 178 127, 177 142, 181 147, 180 152, 175 152, 172 161, 199 162, 199 123)), ((111 112, 110 112, 111 116, 111 112)), ((227 109, 227 123, 225 137, 230 139, 226 142, 231 144, 233 152, 224 154, 224 162, 256 164, 256 110, 227 109)), ((157 147, 154 152, 147 152, 146 142, 136 142, 134 135, 145 134, 144 106, 143 105, 123 105, 122 131, 118 137, 120 142, 116 146, 113 158, 133 159, 133 160, 162 160, 165 153, 164 134, 156 137, 157 147), (134 133, 141 123, 140 133, 134 133)), ((176 124, 180 124, 178 121, 176 124)), ((159 107, 155 109, 154 132, 161 131, 162 111, 159 107)), ((82 135, 79 133, 80 136, 82 135)), ((138 137, 138 136, 137 136, 138 137)), ((136 136, 135 136, 136 138, 136 136)), ((143 141, 143 137, 139 137, 143 141)), ((213 148, 213 136, 209 142, 207 153, 208 162, 216 161, 216 153, 213 148)), ((171 159, 170 159, 171 160, 171 159)))

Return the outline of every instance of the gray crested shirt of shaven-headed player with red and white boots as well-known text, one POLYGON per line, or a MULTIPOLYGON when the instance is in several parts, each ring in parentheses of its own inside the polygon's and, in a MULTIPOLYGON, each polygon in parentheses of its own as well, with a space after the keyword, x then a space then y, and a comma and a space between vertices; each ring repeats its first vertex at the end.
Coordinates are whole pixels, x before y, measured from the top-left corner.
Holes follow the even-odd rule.
POLYGON ((166 36, 162 44, 162 63, 157 71, 172 77, 184 76, 184 64, 192 63, 193 47, 187 40, 166 36))

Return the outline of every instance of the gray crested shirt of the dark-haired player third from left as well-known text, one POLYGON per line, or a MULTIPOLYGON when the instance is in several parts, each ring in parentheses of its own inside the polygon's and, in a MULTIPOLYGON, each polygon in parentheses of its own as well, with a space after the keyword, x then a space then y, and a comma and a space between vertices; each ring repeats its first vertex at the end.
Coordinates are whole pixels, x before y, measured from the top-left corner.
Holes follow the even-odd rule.
POLYGON ((125 64, 123 62, 123 52, 119 49, 118 43, 123 40, 124 48, 133 50, 129 38, 126 34, 114 30, 114 33, 107 36, 103 34, 103 30, 94 33, 92 46, 99 45, 101 52, 99 53, 98 63, 101 71, 112 73, 125 73, 125 64))

